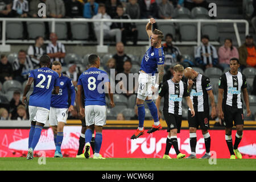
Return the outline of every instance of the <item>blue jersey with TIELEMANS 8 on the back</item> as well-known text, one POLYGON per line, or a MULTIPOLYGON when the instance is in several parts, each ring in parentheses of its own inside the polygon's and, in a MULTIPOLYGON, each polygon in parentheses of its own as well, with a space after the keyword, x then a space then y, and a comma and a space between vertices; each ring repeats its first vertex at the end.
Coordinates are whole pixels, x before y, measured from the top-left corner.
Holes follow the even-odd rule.
POLYGON ((109 82, 108 74, 98 68, 89 68, 79 77, 77 85, 82 85, 85 96, 85 106, 105 106, 104 83, 109 82))

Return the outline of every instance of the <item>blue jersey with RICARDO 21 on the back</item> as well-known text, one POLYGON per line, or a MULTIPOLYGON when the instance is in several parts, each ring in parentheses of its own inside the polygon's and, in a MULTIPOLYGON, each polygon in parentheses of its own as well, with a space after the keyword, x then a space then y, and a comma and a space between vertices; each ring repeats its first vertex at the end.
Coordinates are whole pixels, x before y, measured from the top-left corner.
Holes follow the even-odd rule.
POLYGON ((34 69, 28 77, 34 78, 34 90, 30 96, 30 106, 50 109, 54 86, 60 86, 59 75, 49 68, 34 69))

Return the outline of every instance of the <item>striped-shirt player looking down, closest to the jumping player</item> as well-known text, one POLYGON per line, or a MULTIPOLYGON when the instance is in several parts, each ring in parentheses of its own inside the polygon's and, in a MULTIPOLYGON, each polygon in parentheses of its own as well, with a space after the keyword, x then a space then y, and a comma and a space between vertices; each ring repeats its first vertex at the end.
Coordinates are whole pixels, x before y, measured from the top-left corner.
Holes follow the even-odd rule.
POLYGON ((163 115, 167 123, 168 137, 166 139, 166 151, 164 152, 163 159, 171 159, 169 152, 172 146, 174 146, 177 159, 185 158, 185 154, 180 153, 177 143, 177 133, 180 133, 182 121, 183 97, 187 101, 188 107, 191 109, 192 117, 195 115, 195 110, 191 98, 189 97, 188 86, 181 81, 183 73, 183 66, 180 64, 175 65, 174 77, 163 83, 162 88, 159 90, 159 96, 155 101, 155 105, 159 111, 161 98, 164 97, 163 115))

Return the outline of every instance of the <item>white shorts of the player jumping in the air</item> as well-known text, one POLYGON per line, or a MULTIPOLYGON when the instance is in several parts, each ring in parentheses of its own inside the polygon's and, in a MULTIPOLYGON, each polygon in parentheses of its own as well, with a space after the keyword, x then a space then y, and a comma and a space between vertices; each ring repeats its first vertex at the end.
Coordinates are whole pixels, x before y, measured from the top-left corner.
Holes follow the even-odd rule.
POLYGON ((150 76, 147 73, 139 73, 139 88, 137 98, 141 100, 145 100, 146 97, 151 97, 156 99, 158 97, 158 92, 154 93, 154 97, 152 96, 152 86, 155 85, 156 76, 150 76), (155 96, 157 94, 157 96, 155 96))

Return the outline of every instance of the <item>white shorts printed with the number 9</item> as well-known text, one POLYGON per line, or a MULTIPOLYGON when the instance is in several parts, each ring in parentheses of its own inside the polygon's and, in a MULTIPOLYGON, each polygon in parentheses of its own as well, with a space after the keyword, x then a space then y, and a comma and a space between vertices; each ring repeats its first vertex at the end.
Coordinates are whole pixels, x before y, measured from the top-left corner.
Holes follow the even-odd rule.
POLYGON ((68 109, 67 108, 50 108, 49 124, 50 126, 57 126, 58 122, 67 123, 68 109))

